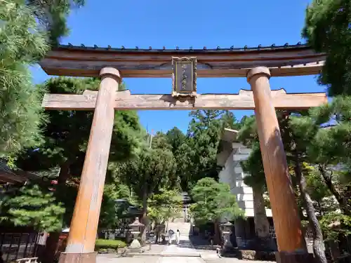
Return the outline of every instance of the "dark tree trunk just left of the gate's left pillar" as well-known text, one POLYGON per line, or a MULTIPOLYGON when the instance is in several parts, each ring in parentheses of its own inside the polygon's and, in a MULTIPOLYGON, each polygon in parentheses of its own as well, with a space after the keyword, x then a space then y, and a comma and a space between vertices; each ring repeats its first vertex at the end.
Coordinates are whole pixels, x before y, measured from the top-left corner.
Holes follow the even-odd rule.
MULTIPOLYGON (((62 186, 66 184, 68 177, 69 177, 69 163, 65 162, 62 164, 62 166, 60 166, 60 173, 58 174, 58 184, 57 184, 58 189, 62 188, 62 186)), ((54 193, 56 198, 58 196, 57 191, 54 193)), ((60 241, 61 232, 62 232, 62 229, 55 232, 51 232, 49 234, 48 239, 46 239, 46 246, 43 253, 43 259, 41 259, 41 262, 43 263, 53 262, 55 258, 55 253, 58 249, 58 243, 60 241)))

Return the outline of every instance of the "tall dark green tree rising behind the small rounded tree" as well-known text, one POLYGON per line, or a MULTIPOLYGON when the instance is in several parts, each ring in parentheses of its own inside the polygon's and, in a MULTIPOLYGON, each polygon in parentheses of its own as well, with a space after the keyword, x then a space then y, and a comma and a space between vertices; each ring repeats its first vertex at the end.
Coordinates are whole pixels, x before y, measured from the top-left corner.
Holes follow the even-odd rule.
POLYGON ((232 112, 197 110, 190 112, 187 135, 175 151, 182 189, 192 189, 204 177, 218 177, 217 151, 224 128, 238 128, 232 112))

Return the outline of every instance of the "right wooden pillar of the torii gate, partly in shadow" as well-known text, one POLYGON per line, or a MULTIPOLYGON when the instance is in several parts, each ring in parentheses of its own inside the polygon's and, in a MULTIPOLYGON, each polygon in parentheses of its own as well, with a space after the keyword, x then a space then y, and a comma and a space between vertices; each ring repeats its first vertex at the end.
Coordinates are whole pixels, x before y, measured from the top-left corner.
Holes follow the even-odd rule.
MULTIPOLYGON (((282 262, 305 262, 305 256, 308 255, 305 238, 301 231, 277 114, 272 104, 269 79, 270 69, 267 67, 253 68, 247 74, 255 102, 258 137, 277 234, 278 254, 289 255, 282 262)), ((281 259, 279 255, 277 262, 281 259)))

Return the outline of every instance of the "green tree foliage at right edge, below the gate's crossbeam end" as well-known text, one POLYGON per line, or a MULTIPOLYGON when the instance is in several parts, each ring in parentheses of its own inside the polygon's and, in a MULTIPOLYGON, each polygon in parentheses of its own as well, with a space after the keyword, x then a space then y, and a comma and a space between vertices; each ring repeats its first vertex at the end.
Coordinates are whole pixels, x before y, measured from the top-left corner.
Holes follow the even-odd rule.
POLYGON ((351 208, 350 101, 348 97, 336 97, 329 104, 311 109, 308 116, 293 119, 303 131, 300 137, 305 138, 310 161, 317 164, 322 181, 345 215, 350 215, 351 208), (336 124, 324 127, 331 121, 336 124))

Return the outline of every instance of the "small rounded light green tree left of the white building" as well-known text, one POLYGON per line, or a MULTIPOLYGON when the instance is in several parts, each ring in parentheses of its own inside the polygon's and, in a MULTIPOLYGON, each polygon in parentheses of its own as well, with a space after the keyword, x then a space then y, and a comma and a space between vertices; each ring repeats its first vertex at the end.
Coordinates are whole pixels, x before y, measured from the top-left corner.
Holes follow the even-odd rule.
POLYGON ((198 222, 213 222, 215 225, 215 243, 220 243, 219 223, 223 217, 235 220, 244 213, 237 204, 237 199, 230 192, 230 186, 216 182, 211 177, 204 177, 195 184, 191 191, 194 203, 190 213, 198 222))

